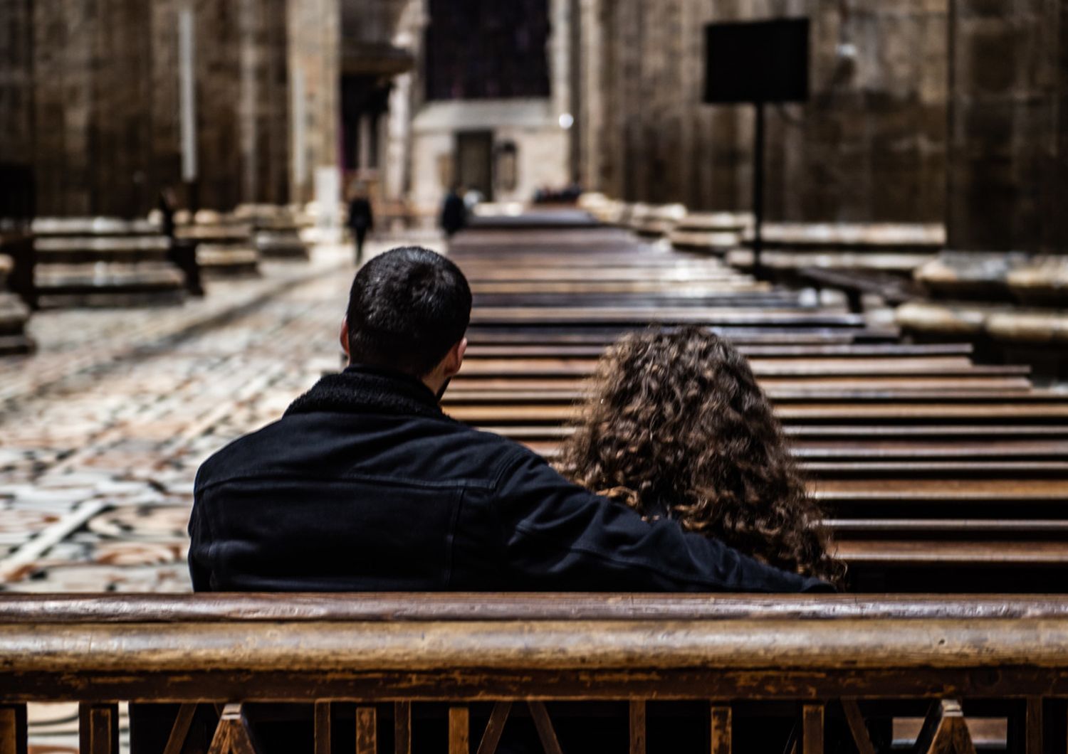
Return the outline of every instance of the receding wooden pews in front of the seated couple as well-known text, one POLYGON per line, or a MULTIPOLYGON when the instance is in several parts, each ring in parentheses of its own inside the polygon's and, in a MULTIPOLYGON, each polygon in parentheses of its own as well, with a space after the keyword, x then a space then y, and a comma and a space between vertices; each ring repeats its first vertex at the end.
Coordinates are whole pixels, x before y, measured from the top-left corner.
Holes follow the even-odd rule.
POLYGON ((651 323, 728 336, 827 507, 855 591, 1059 591, 1068 395, 960 343, 904 342, 716 257, 581 221, 457 236, 475 296, 454 417, 552 456, 602 348, 651 323))

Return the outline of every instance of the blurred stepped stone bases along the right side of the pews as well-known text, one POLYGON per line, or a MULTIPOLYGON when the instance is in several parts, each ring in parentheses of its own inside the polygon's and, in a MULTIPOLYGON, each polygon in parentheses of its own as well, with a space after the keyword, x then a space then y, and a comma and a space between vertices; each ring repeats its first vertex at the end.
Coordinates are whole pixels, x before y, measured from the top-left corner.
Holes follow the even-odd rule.
MULTIPOLYGON (((755 272, 751 214, 601 194, 580 204, 608 224, 755 272)), ((768 223, 759 275, 839 291, 853 311, 876 296, 917 340, 971 342, 984 360, 1026 363, 1040 378, 1068 379, 1068 256, 957 251, 947 242, 941 224, 768 223)))

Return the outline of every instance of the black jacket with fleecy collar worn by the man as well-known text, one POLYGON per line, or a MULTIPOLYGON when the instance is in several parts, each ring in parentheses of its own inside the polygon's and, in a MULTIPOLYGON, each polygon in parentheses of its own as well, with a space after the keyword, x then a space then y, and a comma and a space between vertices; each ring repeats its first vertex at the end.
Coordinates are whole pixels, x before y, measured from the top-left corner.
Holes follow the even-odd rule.
POLYGON ((827 585, 646 523, 536 453, 349 367, 197 476, 198 591, 753 591, 827 585))

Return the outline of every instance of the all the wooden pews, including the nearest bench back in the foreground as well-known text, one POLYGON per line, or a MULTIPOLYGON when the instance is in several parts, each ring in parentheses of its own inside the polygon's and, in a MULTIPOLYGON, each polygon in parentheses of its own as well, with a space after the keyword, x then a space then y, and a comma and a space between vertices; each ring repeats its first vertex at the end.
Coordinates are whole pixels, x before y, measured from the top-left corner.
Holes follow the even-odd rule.
POLYGON ((551 456, 608 342, 714 327, 854 593, 12 595, 0 751, 27 751, 28 703, 75 701, 80 750, 116 754, 135 701, 175 705, 166 754, 494 754, 517 728, 546 754, 1068 754, 1068 598, 1023 594, 1063 589, 1068 400, 579 214, 474 226, 450 414, 551 456), (261 735, 280 721, 299 747, 261 735))

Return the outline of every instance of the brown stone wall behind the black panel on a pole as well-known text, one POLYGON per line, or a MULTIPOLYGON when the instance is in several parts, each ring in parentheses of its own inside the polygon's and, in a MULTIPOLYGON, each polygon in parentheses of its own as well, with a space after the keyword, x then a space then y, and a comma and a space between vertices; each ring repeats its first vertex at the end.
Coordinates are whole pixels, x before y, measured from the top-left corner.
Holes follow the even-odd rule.
POLYGON ((582 180, 748 209, 752 108, 701 105, 704 25, 807 15, 813 96, 770 110, 769 216, 941 220, 947 1, 583 0, 582 180))

